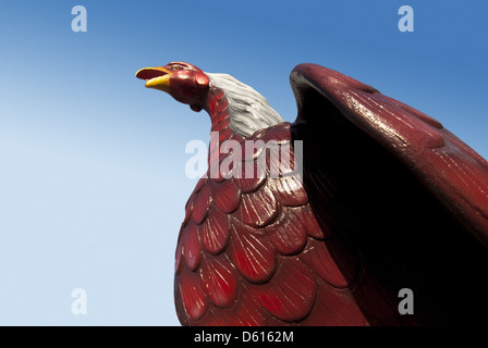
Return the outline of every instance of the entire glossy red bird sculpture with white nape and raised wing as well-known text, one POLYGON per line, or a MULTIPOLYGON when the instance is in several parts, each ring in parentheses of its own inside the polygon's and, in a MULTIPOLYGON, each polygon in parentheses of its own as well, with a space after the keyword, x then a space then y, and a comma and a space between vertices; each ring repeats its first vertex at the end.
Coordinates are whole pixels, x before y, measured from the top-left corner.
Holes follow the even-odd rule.
POLYGON ((315 64, 291 74, 292 124, 229 75, 173 62, 136 76, 207 111, 217 135, 176 247, 183 325, 439 325, 487 313, 488 163, 438 121, 315 64))

